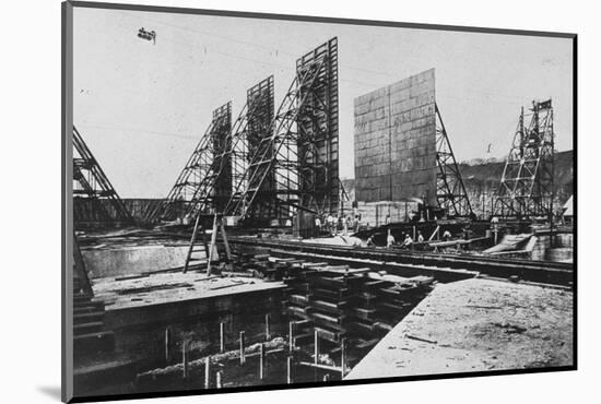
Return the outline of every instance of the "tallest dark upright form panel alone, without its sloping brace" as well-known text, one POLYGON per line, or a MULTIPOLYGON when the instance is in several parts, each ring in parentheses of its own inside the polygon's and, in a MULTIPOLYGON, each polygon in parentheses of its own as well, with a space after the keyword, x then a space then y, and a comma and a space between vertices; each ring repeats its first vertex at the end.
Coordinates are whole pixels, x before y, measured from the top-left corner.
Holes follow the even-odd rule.
POLYGON ((339 207, 338 38, 296 60, 297 74, 323 60, 315 83, 298 88, 304 99, 296 119, 299 205, 335 214, 339 207))

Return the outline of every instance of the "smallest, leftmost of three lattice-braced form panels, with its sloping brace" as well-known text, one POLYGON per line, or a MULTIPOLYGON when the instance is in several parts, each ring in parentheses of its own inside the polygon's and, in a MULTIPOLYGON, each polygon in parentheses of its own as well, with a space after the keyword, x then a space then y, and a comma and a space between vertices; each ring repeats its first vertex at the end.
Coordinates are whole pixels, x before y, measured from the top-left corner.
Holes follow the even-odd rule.
POLYGON ((200 139, 186 166, 162 204, 150 210, 145 219, 173 221, 193 215, 205 209, 208 203, 224 203, 232 193, 232 159, 220 151, 231 142, 232 103, 226 103, 213 111, 209 128, 200 139), (214 176, 215 165, 221 175, 214 176), (214 187, 210 193, 203 192, 207 183, 214 187), (201 200, 204 204, 201 206, 201 200))

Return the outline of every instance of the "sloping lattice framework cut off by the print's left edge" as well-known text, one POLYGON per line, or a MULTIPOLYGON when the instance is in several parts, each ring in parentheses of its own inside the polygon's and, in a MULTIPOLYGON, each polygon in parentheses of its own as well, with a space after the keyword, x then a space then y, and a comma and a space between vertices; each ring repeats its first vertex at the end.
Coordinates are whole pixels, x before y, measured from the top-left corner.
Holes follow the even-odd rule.
MULTIPOLYGON (((102 222, 133 222, 123 201, 75 127, 73 127, 73 197, 92 201, 94 214, 102 222), (105 200, 108 204, 103 202, 105 200), (113 212, 107 210, 108 206, 113 207, 113 212)), ((74 216, 76 221, 79 216, 76 212, 74 216)))

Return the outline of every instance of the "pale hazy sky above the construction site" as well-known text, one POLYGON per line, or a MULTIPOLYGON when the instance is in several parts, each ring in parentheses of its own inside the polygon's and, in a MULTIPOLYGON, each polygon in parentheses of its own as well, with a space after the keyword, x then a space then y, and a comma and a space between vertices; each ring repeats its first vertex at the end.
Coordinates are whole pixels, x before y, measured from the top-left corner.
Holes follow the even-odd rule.
POLYGON ((232 100, 235 120, 270 74, 278 108, 296 59, 334 36, 341 178, 354 98, 431 68, 458 161, 507 155, 521 106, 549 97, 556 148, 573 147, 570 39, 85 8, 73 36, 73 121, 122 198, 165 197, 213 109, 232 100))

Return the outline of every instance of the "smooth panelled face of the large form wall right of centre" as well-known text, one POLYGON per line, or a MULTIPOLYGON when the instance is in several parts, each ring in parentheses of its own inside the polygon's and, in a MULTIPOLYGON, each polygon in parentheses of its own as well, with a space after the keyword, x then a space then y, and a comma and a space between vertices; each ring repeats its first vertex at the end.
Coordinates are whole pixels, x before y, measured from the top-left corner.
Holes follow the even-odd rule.
POLYGON ((355 98, 356 199, 436 203, 434 69, 355 98))

